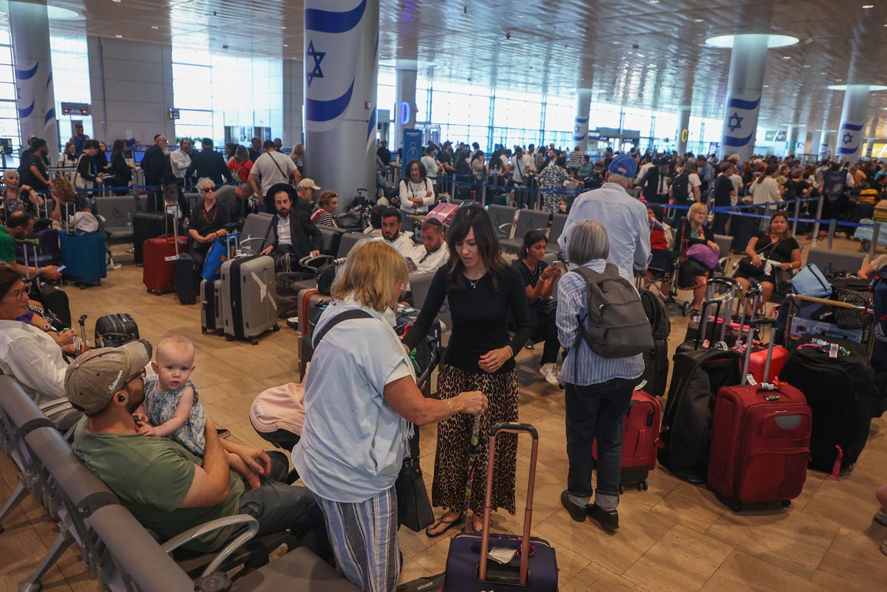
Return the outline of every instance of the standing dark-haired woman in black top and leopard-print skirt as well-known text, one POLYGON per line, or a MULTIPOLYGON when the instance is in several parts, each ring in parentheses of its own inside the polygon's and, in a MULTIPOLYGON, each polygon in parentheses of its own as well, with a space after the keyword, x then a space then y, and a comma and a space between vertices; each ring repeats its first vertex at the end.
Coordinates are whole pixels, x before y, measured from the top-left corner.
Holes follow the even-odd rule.
MULTIPOLYGON (((425 304, 404 345, 415 347, 428 335, 444 298, 450 305, 452 334, 440 368, 438 389, 443 400, 462 391, 482 391, 490 400, 488 411, 475 418, 454 415, 437 428, 435 478, 432 503, 447 511, 426 530, 439 536, 463 516, 469 454, 476 439, 476 462, 469 508, 473 525, 480 530, 487 482, 487 444, 491 426, 517 421, 517 371, 514 355, 530 336, 527 296, 520 272, 506 264, 499 251, 496 230, 487 212, 476 205, 459 209, 447 243, 450 263, 437 270, 425 304), (514 318, 514 337, 509 340, 507 317, 514 318), (470 388, 468 388, 470 386, 470 388), (474 436, 474 438, 473 438, 474 436)), ((492 508, 514 514, 514 473, 517 438, 498 438, 493 475, 492 508)))

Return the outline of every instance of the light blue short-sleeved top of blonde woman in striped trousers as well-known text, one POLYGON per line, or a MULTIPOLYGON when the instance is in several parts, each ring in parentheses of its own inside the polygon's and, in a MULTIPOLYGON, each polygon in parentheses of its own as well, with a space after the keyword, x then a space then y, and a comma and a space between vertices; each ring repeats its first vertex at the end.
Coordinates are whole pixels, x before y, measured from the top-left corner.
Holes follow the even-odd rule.
POLYGON ((385 385, 415 375, 394 329, 380 312, 335 301, 316 331, 359 308, 373 319, 344 320, 312 356, 305 382, 305 424, 293 464, 313 493, 358 503, 394 486, 409 424, 383 397, 385 385))

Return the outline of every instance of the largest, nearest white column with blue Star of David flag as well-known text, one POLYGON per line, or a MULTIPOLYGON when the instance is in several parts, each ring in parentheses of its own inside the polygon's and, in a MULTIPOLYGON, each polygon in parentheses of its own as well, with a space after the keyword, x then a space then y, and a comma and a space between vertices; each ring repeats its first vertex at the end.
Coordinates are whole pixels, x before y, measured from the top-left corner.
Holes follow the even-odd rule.
POLYGON ((379 0, 330 4, 305 1, 305 173, 345 209, 375 187, 379 0))

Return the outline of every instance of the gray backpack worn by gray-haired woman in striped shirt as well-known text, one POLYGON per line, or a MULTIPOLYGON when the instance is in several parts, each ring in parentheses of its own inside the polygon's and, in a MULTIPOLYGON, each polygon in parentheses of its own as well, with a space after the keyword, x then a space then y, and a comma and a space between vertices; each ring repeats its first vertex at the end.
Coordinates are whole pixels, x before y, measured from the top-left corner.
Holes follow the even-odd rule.
POLYGON ((601 358, 628 358, 653 349, 653 331, 638 290, 619 275, 614 264, 603 273, 588 267, 574 272, 585 280, 587 316, 579 325, 579 339, 584 339, 601 358))

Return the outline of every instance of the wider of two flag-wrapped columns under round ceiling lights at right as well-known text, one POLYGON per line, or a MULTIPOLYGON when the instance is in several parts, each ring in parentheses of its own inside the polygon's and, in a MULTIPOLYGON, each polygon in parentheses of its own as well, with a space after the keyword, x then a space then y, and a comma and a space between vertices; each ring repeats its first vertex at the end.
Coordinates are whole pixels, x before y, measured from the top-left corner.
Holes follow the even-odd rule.
POLYGON ((755 147, 766 60, 766 35, 734 37, 721 132, 721 156, 739 154, 740 161, 747 161, 751 157, 755 147))

